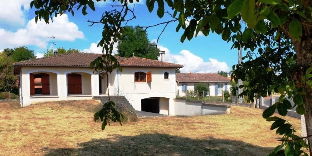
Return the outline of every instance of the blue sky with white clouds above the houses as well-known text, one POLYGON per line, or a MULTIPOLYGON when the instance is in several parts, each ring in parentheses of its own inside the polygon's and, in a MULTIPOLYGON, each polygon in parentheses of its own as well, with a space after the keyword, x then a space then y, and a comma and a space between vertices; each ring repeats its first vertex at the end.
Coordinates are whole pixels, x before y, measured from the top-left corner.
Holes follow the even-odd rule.
MULTIPOLYGON (((95 2, 96 11, 87 10, 83 16, 81 10, 54 18, 54 22, 46 25, 44 21, 34 21, 34 9, 30 9, 31 0, 14 0, 9 3, 0 0, 0 51, 5 48, 27 46, 35 51, 37 57, 50 49, 55 36, 56 48, 76 48, 88 53, 100 53, 101 47, 97 47, 101 39, 103 26, 96 24, 89 27, 90 21, 99 21, 105 11, 112 10, 111 2, 95 2)), ((171 20, 168 14, 163 18, 154 12, 149 13, 145 1, 137 2, 134 6, 136 19, 127 23, 131 26, 150 26, 160 22, 171 20)), ((115 9, 115 8, 113 8, 115 9)), ((118 7, 116 9, 119 9, 118 7)), ((168 9, 167 9, 168 10, 168 9)), ((232 65, 237 64, 237 50, 230 50, 232 43, 223 41, 220 35, 210 33, 208 37, 199 34, 191 41, 180 42, 183 29, 175 31, 178 22, 170 23, 158 41, 160 50, 166 51, 165 61, 183 64, 181 72, 217 72, 230 71, 232 65)), ((147 30, 150 41, 156 41, 163 30, 164 25, 152 27, 147 30)), ((246 52, 243 51, 243 56, 246 52)))

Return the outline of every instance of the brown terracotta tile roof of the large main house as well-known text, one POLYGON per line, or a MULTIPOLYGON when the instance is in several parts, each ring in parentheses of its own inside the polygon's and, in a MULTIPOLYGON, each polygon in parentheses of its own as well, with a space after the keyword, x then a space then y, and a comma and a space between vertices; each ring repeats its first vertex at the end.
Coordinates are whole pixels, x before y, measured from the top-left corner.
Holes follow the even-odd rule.
MULTIPOLYGON (((69 53, 62 55, 55 55, 50 57, 42 57, 38 59, 32 59, 27 61, 15 62, 16 66, 78 66, 89 67, 90 62, 102 54, 92 53, 69 53)), ((145 67, 175 67, 182 68, 183 65, 150 60, 140 57, 119 57, 115 56, 121 66, 145 66, 145 67)))

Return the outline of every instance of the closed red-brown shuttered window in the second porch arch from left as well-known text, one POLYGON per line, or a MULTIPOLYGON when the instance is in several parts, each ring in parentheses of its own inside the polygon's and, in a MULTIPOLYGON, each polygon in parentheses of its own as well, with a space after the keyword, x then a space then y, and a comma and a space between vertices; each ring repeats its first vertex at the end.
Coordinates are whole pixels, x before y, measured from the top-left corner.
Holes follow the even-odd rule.
POLYGON ((80 74, 67 75, 68 94, 82 94, 82 81, 80 74))

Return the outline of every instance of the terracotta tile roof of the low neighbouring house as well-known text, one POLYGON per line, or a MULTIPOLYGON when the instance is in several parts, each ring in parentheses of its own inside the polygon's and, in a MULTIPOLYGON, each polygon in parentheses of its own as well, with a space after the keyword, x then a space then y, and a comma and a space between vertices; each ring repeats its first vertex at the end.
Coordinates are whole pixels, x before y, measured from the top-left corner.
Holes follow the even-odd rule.
POLYGON ((217 73, 176 73, 177 82, 230 82, 217 73))

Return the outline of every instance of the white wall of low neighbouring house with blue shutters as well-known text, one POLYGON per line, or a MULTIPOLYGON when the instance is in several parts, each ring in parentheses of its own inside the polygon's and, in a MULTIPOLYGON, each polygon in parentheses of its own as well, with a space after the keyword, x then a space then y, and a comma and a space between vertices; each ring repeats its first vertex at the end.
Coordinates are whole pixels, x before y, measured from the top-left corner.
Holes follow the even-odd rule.
MULTIPOLYGON (((226 90, 225 89, 225 84, 227 84, 227 90, 230 91, 231 88, 231 83, 230 82, 180 82, 180 83, 176 83, 177 84, 177 95, 178 97, 185 97, 185 92, 186 91, 182 91, 182 85, 183 84, 187 84, 187 90, 192 90, 194 91, 194 86, 195 84, 209 84, 209 95, 210 96, 222 96, 221 94, 215 95, 215 84, 222 84, 223 85, 223 89, 222 90, 226 90)), ((195 93, 197 94, 197 91, 195 91, 195 93)), ((207 95, 208 96, 208 95, 207 95)))

